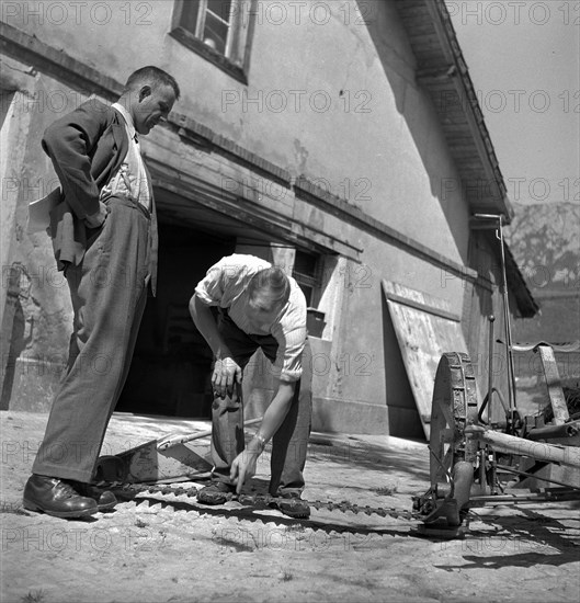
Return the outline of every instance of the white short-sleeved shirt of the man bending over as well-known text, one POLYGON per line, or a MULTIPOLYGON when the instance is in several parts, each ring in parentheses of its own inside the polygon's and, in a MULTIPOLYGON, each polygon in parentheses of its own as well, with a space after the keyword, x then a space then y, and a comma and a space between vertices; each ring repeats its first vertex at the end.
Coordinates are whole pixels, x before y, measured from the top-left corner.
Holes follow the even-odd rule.
POLYGON ((291 294, 288 302, 271 325, 260 329, 248 319, 248 284, 252 276, 272 264, 254 255, 234 254, 213 265, 197 286, 195 293, 208 306, 227 308, 234 323, 248 334, 271 334, 277 342, 274 376, 286 382, 300 378, 302 353, 306 342, 306 298, 298 283, 288 276, 291 294))

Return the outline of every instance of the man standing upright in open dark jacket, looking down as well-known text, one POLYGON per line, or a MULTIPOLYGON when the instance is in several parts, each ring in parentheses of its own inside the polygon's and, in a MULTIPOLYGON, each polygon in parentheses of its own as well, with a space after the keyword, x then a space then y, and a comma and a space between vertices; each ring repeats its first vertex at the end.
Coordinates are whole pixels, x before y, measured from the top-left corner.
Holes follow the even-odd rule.
POLYGON ((66 375, 24 488, 24 507, 80 517, 114 507, 90 487, 125 383, 147 287, 155 295, 157 219, 139 149, 180 96, 157 67, 129 76, 116 103, 91 100, 49 126, 43 148, 61 184, 50 215, 58 269, 75 310, 66 375))

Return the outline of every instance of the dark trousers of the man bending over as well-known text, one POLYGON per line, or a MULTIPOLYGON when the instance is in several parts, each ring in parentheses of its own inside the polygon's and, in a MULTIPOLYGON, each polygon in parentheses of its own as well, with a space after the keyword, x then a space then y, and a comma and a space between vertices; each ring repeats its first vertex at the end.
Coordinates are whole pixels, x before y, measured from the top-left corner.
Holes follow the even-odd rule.
MULTIPOLYGON (((272 335, 247 334, 221 310, 218 330, 228 345, 234 360, 243 369, 250 357, 260 348, 265 357, 274 363, 277 342, 272 335)), ((304 466, 312 408, 311 353, 308 340, 303 352, 303 375, 296 383, 292 406, 282 425, 272 439, 270 462, 270 493, 299 494, 304 490, 304 466)), ((235 388, 231 397, 215 397, 212 406, 212 459, 214 475, 229 480, 231 463, 244 448, 243 405, 241 387, 235 388)))

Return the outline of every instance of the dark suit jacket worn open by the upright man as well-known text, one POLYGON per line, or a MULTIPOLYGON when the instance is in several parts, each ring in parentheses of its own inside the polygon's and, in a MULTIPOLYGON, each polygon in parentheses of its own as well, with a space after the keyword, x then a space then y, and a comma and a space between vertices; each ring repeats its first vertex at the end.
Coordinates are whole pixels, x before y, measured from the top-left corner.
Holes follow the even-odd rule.
MULTIPOLYGON (((42 145, 62 189, 61 201, 50 213, 50 237, 58 270, 64 270, 67 263, 79 264, 84 257, 89 228, 83 219, 99 212, 101 190, 127 155, 127 132, 120 113, 90 100, 48 126, 42 145)), ((155 295, 157 216, 150 185, 149 191, 152 235, 149 273, 155 295)))

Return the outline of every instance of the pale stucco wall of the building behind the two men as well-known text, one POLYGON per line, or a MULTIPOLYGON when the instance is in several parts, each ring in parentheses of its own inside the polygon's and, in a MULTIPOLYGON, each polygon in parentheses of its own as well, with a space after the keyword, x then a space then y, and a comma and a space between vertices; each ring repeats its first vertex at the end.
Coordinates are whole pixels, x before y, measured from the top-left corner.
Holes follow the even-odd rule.
MULTIPOLYGON (((289 12, 282 22, 273 12, 269 19, 265 7, 272 3, 260 2, 263 12, 262 18, 258 13, 251 36, 248 84, 170 35, 173 2, 124 2, 123 10, 121 3, 109 3, 110 13, 104 8, 82 12, 79 5, 79 14, 62 3, 69 11, 66 19, 57 16, 56 9, 48 14, 47 3, 10 4, 12 12, 2 14, 4 23, 62 49, 76 61, 72 70, 86 67, 102 76, 101 86, 109 86, 111 96, 118 93, 111 82, 123 83, 144 65, 157 65, 175 76, 182 90, 175 115, 207 128, 217 146, 221 138, 235 141, 251 161, 192 143, 178 127, 180 122, 157 128, 143 148, 156 179, 161 220, 194 218, 197 214, 190 209, 197 211, 202 183, 212 189, 216 207, 227 202, 238 212, 229 216, 238 235, 247 228, 268 239, 268 232, 260 230, 263 224, 271 235, 280 224, 281 238, 288 244, 309 252, 315 248, 326 275, 318 307, 327 315, 327 329, 314 342, 319 354, 315 414, 316 403, 323 409, 319 424, 388 433, 387 405, 395 403, 406 407, 400 412, 413 431, 418 417, 409 384, 398 375, 401 359, 386 325, 382 280, 444 299, 460 316, 466 283, 458 273, 468 264, 470 209, 460 186, 453 185, 460 178, 432 102, 416 83, 416 59, 395 2, 372 3, 366 24, 357 22, 355 2, 342 3, 349 19, 343 9, 333 11, 323 24, 307 13, 299 22, 289 12), (287 181, 257 169, 260 160, 280 169, 287 181), (338 200, 337 207, 330 207, 328 200, 320 205, 297 194, 294 182, 300 178, 330 193, 330 203, 338 200), (236 198, 226 194, 232 190, 236 198), (246 218, 250 221, 244 223, 246 218), (453 277, 446 263, 455 271, 453 277)), ((26 73, 14 82, 2 75, 2 88, 19 90, 22 96, 16 104, 22 104, 19 111, 25 115, 18 132, 26 134, 24 157, 14 155, 7 168, 22 185, 11 197, 14 228, 3 265, 20 266, 23 276, 15 289, 18 311, 12 312, 11 322, 4 321, 12 343, 2 403, 7 407, 10 400, 26 398, 46 405, 66 357, 71 309, 48 238, 25 232, 26 206, 54 183, 39 147, 44 128, 80 104, 88 91, 66 78, 31 70, 13 56, 5 60, 14 71, 26 73)), ((8 136, 9 145, 14 145, 18 137, 8 136)), ((203 203, 207 207, 207 200, 203 203)), ((236 250, 263 251, 237 240, 236 250)), ((218 251, 216 243, 212 249, 218 251)), ((231 252, 230 247, 224 249, 231 252)), ((196 271, 202 271, 209 255, 200 258, 196 271)), ((293 255, 287 258, 292 261, 293 255)), ((187 286, 196 272, 192 269, 191 274, 187 286)), ((4 306, 9 297, 4 292, 4 306)), ((177 297, 182 304, 184 292, 177 297)), ((152 333, 161 328, 166 306, 150 300, 150 308, 152 333)), ((255 412, 265 399, 260 391, 268 389, 261 379, 253 379, 255 387, 252 379, 248 385, 255 412)))

